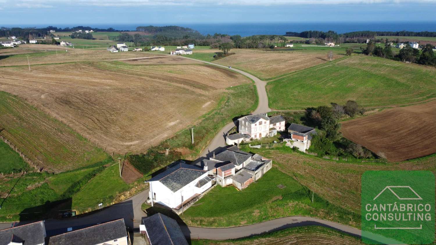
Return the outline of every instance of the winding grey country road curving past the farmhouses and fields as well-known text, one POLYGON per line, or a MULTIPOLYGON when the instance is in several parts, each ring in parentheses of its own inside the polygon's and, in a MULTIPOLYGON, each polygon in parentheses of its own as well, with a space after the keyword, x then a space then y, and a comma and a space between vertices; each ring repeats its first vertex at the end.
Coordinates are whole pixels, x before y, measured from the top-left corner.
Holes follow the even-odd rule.
MULTIPOLYGON (((151 58, 151 57, 145 57, 151 58)), ((187 58, 187 57, 184 57, 187 58)), ((141 58, 134 58, 141 59, 141 58)), ((200 61, 209 65, 215 65, 221 68, 227 68, 224 65, 218 65, 208 61, 201 61, 193 58, 187 58, 194 61, 200 61)), ((124 60, 124 59, 123 59, 124 60)), ((265 85, 266 82, 260 80, 259 78, 235 68, 230 68, 231 70, 245 75, 251 78, 257 88, 257 93, 259 96, 259 104, 253 114, 270 112, 271 109, 268 107, 268 97, 266 95, 265 85)), ((225 134, 235 126, 235 122, 230 122, 224 126, 215 138, 211 141, 208 147, 201 153, 200 158, 207 157, 212 154, 213 150, 217 152, 225 147, 225 134)), ((146 201, 148 196, 148 189, 141 191, 140 193, 134 195, 122 201, 118 204, 114 204, 110 207, 104 208, 102 211, 97 211, 93 214, 85 215, 81 218, 69 218, 64 220, 46 220, 45 226, 48 231, 56 231, 62 228, 75 227, 81 225, 96 224, 100 222, 106 222, 118 218, 124 218, 126 225, 134 228, 138 228, 142 217, 146 214, 141 210, 141 204, 146 201)), ((20 222, 26 223, 26 222, 20 222)), ((9 228, 11 223, 0 223, 0 229, 9 228)), ((307 225, 320 225, 325 227, 330 227, 338 231, 342 231, 349 235, 361 236, 361 230, 357 228, 352 228, 347 225, 341 225, 333 221, 326 221, 318 218, 304 217, 304 216, 290 216, 277 218, 270 221, 265 221, 262 223, 257 223, 253 225, 245 225, 231 228, 201 228, 201 227, 191 227, 182 225, 181 228, 186 237, 191 238, 202 238, 211 240, 226 240, 234 238, 249 237, 252 235, 264 234, 272 231, 279 231, 285 228, 297 227, 297 226, 307 226, 307 225)))

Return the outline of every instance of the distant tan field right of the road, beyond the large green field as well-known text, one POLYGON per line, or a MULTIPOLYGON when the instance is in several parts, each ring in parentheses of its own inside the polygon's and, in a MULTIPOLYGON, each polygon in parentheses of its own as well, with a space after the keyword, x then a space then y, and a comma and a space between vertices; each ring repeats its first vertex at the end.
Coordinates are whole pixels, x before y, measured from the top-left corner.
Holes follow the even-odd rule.
MULTIPOLYGON (((231 65, 248 71, 261 79, 269 79, 292 71, 299 71, 327 62, 326 54, 253 51, 232 49, 236 54, 221 58, 215 63, 231 65)), ((337 55, 334 55, 337 58, 337 55)))

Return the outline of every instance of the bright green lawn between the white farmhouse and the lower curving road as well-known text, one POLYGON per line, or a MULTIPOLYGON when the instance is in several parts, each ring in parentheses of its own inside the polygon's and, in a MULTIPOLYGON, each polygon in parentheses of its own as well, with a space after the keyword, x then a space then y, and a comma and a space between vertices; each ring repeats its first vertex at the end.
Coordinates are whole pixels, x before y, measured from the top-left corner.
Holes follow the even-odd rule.
POLYGON ((276 167, 242 191, 216 186, 181 216, 187 225, 229 227, 259 223, 274 218, 305 215, 343 224, 358 219, 312 193, 276 167), (280 189, 278 186, 283 185, 280 189))

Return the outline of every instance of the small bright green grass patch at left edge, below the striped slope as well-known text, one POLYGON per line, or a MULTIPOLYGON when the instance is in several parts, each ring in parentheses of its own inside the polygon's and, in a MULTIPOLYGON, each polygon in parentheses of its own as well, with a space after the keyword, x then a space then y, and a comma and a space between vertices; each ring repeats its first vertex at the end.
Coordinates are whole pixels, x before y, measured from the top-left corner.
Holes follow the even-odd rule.
POLYGON ((7 143, 0 140, 0 172, 2 174, 18 173, 29 168, 29 165, 24 162, 7 143))

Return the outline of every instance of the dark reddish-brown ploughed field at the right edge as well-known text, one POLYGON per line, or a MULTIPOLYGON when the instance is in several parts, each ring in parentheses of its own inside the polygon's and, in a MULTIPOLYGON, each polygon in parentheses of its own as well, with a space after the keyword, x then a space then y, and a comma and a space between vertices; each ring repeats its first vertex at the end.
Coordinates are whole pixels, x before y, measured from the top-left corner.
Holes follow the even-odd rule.
POLYGON ((341 132, 347 139, 397 162, 436 153, 435 129, 433 101, 345 121, 341 132))

